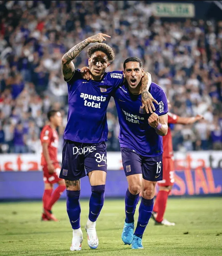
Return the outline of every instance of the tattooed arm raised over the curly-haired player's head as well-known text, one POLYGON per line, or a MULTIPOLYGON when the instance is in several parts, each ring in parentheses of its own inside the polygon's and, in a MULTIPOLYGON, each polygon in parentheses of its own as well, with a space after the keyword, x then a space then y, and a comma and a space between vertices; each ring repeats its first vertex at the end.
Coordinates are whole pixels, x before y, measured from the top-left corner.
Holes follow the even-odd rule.
POLYGON ((62 74, 65 77, 66 80, 71 79, 71 77, 75 73, 75 66, 72 60, 76 58, 76 56, 79 55, 79 53, 90 43, 99 42, 102 43, 105 41, 105 36, 110 37, 106 34, 96 34, 93 36, 88 37, 84 41, 76 44, 74 47, 72 47, 67 53, 65 53, 62 57, 62 74))

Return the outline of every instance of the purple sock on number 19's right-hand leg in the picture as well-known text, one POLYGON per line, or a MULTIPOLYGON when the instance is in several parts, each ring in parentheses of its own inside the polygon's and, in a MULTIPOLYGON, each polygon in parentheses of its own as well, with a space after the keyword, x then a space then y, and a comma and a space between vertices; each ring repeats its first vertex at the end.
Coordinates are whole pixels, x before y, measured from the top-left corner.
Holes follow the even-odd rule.
POLYGON ((141 203, 139 205, 139 217, 134 232, 135 236, 142 238, 145 231, 146 225, 148 224, 152 211, 153 211, 153 199, 145 199, 142 197, 141 203))

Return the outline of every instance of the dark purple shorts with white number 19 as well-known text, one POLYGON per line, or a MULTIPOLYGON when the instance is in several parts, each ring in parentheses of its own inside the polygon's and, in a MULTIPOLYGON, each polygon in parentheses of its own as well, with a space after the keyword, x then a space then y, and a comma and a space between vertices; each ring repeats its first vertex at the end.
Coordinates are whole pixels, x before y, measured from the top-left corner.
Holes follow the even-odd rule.
POLYGON ((147 157, 127 147, 121 147, 120 149, 126 176, 142 173, 145 180, 160 181, 163 179, 162 154, 147 157))

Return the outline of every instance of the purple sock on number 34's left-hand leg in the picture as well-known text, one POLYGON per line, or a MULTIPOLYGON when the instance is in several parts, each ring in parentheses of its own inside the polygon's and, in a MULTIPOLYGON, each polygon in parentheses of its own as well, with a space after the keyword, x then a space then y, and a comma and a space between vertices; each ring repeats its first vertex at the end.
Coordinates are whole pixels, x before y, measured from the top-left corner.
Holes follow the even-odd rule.
POLYGON ((80 228, 80 204, 79 204, 79 195, 80 190, 72 191, 66 190, 67 200, 66 208, 69 216, 69 221, 73 229, 80 228))

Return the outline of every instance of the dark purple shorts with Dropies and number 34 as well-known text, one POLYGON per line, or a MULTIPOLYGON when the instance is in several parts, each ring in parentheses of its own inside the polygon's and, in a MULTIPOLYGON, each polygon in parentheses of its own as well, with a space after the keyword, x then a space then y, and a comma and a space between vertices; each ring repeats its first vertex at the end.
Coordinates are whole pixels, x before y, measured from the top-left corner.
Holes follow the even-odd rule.
POLYGON ((65 139, 59 178, 78 180, 95 170, 107 170, 105 142, 88 144, 65 139))

